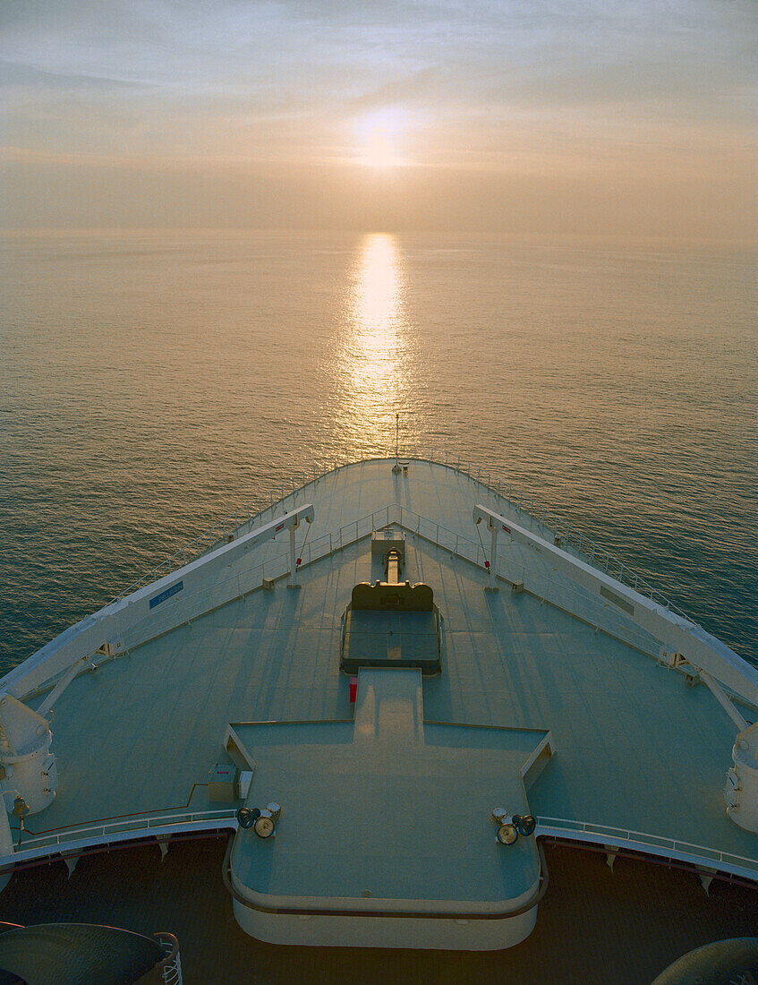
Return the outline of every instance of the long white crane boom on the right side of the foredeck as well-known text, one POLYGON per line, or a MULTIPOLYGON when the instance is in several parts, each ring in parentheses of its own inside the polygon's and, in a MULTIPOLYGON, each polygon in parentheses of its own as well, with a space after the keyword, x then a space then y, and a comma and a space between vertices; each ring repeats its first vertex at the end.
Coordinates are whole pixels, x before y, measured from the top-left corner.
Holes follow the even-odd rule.
MULTIPOLYGON (((681 654, 694 667, 707 671, 751 704, 758 704, 758 669, 701 626, 670 612, 665 606, 640 595, 604 571, 555 547, 486 506, 474 506, 474 520, 476 523, 484 520, 490 530, 495 525, 511 542, 534 549, 542 558, 549 560, 552 567, 600 595, 634 623, 660 639, 667 653, 681 654)), ((494 559, 490 561, 490 579, 493 577, 493 566, 494 559)))

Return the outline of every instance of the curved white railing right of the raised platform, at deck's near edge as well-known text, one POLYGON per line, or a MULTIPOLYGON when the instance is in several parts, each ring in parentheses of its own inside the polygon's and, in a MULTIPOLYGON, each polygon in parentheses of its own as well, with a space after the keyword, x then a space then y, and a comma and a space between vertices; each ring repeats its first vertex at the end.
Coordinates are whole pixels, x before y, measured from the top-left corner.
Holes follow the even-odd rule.
POLYGON ((536 833, 537 837, 551 835, 575 841, 592 841, 614 847, 632 848, 635 851, 663 855, 665 858, 680 859, 696 865, 707 863, 711 868, 720 868, 724 872, 758 880, 758 859, 720 851, 718 848, 708 848, 705 845, 696 845, 691 841, 679 841, 676 838, 635 831, 631 828, 596 824, 591 821, 570 821, 566 818, 538 818, 536 833))

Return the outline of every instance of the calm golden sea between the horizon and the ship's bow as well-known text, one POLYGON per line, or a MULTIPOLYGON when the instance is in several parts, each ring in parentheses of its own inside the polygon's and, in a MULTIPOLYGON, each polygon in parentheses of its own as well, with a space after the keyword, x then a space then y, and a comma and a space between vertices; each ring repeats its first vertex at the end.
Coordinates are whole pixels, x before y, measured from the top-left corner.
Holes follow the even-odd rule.
POLYGON ((0 243, 0 671, 297 469, 449 449, 758 662, 755 255, 263 232, 0 243))

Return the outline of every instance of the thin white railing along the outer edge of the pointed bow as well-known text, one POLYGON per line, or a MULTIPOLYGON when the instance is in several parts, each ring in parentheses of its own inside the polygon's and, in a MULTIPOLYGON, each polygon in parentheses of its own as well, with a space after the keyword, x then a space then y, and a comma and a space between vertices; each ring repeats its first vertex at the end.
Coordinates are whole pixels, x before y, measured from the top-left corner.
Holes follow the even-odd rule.
MULTIPOLYGON (((537 523, 537 526, 541 531, 548 530, 554 537, 560 538, 561 546, 563 548, 573 548, 579 555, 586 558, 596 567, 599 567, 605 571, 611 577, 615 578, 616 581, 620 581, 622 584, 628 585, 641 595, 645 595, 652 601, 665 606, 666 609, 678 613, 678 615, 683 616, 686 619, 690 618, 686 615, 686 613, 682 612, 681 609, 673 605, 667 598, 665 598, 662 592, 652 586, 641 575, 637 574, 631 567, 629 567, 629 565, 624 564, 623 561, 616 558, 615 555, 612 555, 609 551, 606 551, 605 548, 601 547, 597 541, 587 537, 578 528, 569 524, 563 517, 548 509, 547 506, 545 506, 534 496, 529 494, 525 495, 524 493, 516 490, 509 483, 505 483, 502 480, 498 479, 497 483, 495 483, 495 479, 489 471, 485 472, 481 468, 474 467, 468 462, 463 461, 460 456, 451 455, 447 451, 444 455, 438 454, 434 450, 423 452, 412 451, 411 453, 406 452, 402 458, 404 461, 425 461, 432 462, 436 465, 444 465, 446 468, 452 469, 454 472, 458 472, 461 475, 469 477, 475 483, 484 486, 490 493, 493 493, 500 499, 505 500, 509 506, 518 509, 525 515, 530 516, 533 522, 537 523)), ((284 499, 288 496, 302 490, 304 487, 312 483, 316 483, 318 480, 324 479, 333 473, 339 472, 340 469, 347 467, 347 465, 354 465, 360 461, 374 460, 375 459, 346 459, 345 461, 335 460, 331 468, 327 466, 320 470, 314 465, 308 472, 299 472, 295 474, 295 476, 287 479, 276 490, 272 490, 266 495, 259 496, 246 506, 236 510, 229 516, 224 517, 218 523, 215 523, 210 530, 180 548, 169 558, 161 561, 157 567, 143 575, 143 577, 135 581, 134 584, 124 589, 124 591, 119 593, 119 595, 117 595, 112 601, 117 602, 125 598, 127 595, 130 595, 138 588, 141 588, 143 585, 148 585, 151 582, 156 581, 158 578, 169 574, 171 571, 178 570, 178 568, 183 567, 184 564, 187 564, 189 561, 199 557, 206 551, 213 548, 216 544, 223 540, 224 537, 236 530, 241 524, 259 519, 268 511, 271 511, 273 517, 274 510, 279 503, 284 501, 284 499)))

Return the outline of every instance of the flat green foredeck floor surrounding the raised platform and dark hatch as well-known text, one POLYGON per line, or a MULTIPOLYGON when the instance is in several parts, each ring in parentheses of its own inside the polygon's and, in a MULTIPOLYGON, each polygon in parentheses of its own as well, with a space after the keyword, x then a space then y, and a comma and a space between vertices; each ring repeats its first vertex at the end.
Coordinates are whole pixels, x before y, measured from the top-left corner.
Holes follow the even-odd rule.
MULTIPOLYGON (((312 543, 393 504, 471 541, 475 503, 509 508, 454 470, 411 462, 397 477, 391 464, 347 467, 279 509, 314 504, 312 543)), ((265 566, 282 550, 262 546, 249 563, 265 566)), ((549 561, 509 551, 514 566, 561 588, 549 561)), ((424 721, 552 733, 555 755, 529 792, 538 831, 758 875, 758 835, 726 818, 722 797, 734 726, 710 690, 687 687, 650 655, 649 635, 635 648, 529 592, 512 594, 507 582, 485 592, 481 566, 412 529, 406 570, 433 587, 443 618, 442 670, 424 681, 424 721)), ((336 542, 299 570, 300 588, 275 581, 76 678, 52 723, 57 797, 29 819, 26 844, 41 849, 52 832, 75 845, 83 836, 74 829, 88 825, 140 831, 171 812, 217 810, 209 823, 233 825, 233 810, 218 811, 206 786, 226 725, 351 718, 341 620, 353 585, 370 573, 370 537, 336 542)), ((611 627, 614 619, 623 627, 622 615, 609 617, 611 627)))

